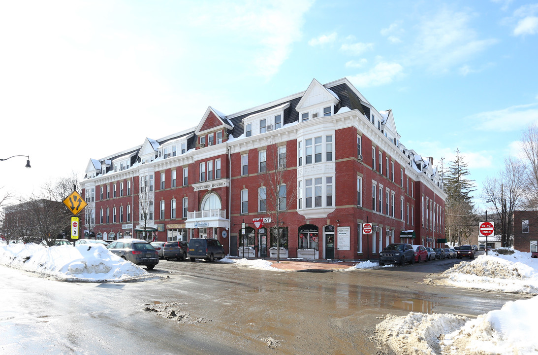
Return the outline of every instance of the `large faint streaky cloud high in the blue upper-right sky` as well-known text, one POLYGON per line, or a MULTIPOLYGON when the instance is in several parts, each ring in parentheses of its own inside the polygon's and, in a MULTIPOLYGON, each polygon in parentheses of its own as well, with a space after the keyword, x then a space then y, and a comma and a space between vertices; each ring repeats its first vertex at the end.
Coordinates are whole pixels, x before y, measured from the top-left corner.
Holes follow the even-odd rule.
POLYGON ((444 7, 433 16, 424 16, 409 64, 426 65, 431 72, 447 72, 497 43, 480 39, 470 24, 472 16, 444 7))

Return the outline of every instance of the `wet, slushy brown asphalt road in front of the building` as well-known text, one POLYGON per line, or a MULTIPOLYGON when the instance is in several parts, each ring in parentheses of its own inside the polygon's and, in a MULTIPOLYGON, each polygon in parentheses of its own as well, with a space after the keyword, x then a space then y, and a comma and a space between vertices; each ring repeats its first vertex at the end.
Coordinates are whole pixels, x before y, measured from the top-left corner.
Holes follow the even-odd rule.
POLYGON ((103 284, 0 267, 11 300, 0 312, 0 353, 375 354, 369 337, 383 315, 477 316, 528 298, 422 283, 456 262, 308 273, 161 260, 152 273, 162 280, 103 284))

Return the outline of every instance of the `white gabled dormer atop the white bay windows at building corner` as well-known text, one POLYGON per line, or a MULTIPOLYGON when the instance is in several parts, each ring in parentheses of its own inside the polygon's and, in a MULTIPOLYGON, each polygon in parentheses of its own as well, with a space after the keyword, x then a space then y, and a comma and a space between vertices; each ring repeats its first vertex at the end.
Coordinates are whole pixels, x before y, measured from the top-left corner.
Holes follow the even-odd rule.
POLYGON ((333 91, 313 79, 295 109, 299 112, 299 121, 304 122, 317 117, 334 115, 339 101, 340 99, 333 91))

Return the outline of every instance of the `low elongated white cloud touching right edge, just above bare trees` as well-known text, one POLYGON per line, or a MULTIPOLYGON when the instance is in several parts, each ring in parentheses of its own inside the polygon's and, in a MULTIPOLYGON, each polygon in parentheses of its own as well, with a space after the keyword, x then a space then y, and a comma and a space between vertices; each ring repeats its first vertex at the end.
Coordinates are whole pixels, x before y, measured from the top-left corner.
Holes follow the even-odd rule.
POLYGON ((466 117, 485 131, 518 131, 530 123, 538 122, 538 104, 511 106, 497 111, 482 112, 466 117))

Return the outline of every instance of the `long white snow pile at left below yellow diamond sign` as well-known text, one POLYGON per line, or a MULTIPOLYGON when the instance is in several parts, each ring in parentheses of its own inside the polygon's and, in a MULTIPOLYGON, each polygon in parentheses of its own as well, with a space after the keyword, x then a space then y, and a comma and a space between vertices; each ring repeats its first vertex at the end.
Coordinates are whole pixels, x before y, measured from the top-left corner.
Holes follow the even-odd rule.
POLYGON ((109 252, 101 244, 45 247, 34 243, 0 245, 0 264, 61 281, 147 281, 160 277, 109 252))

